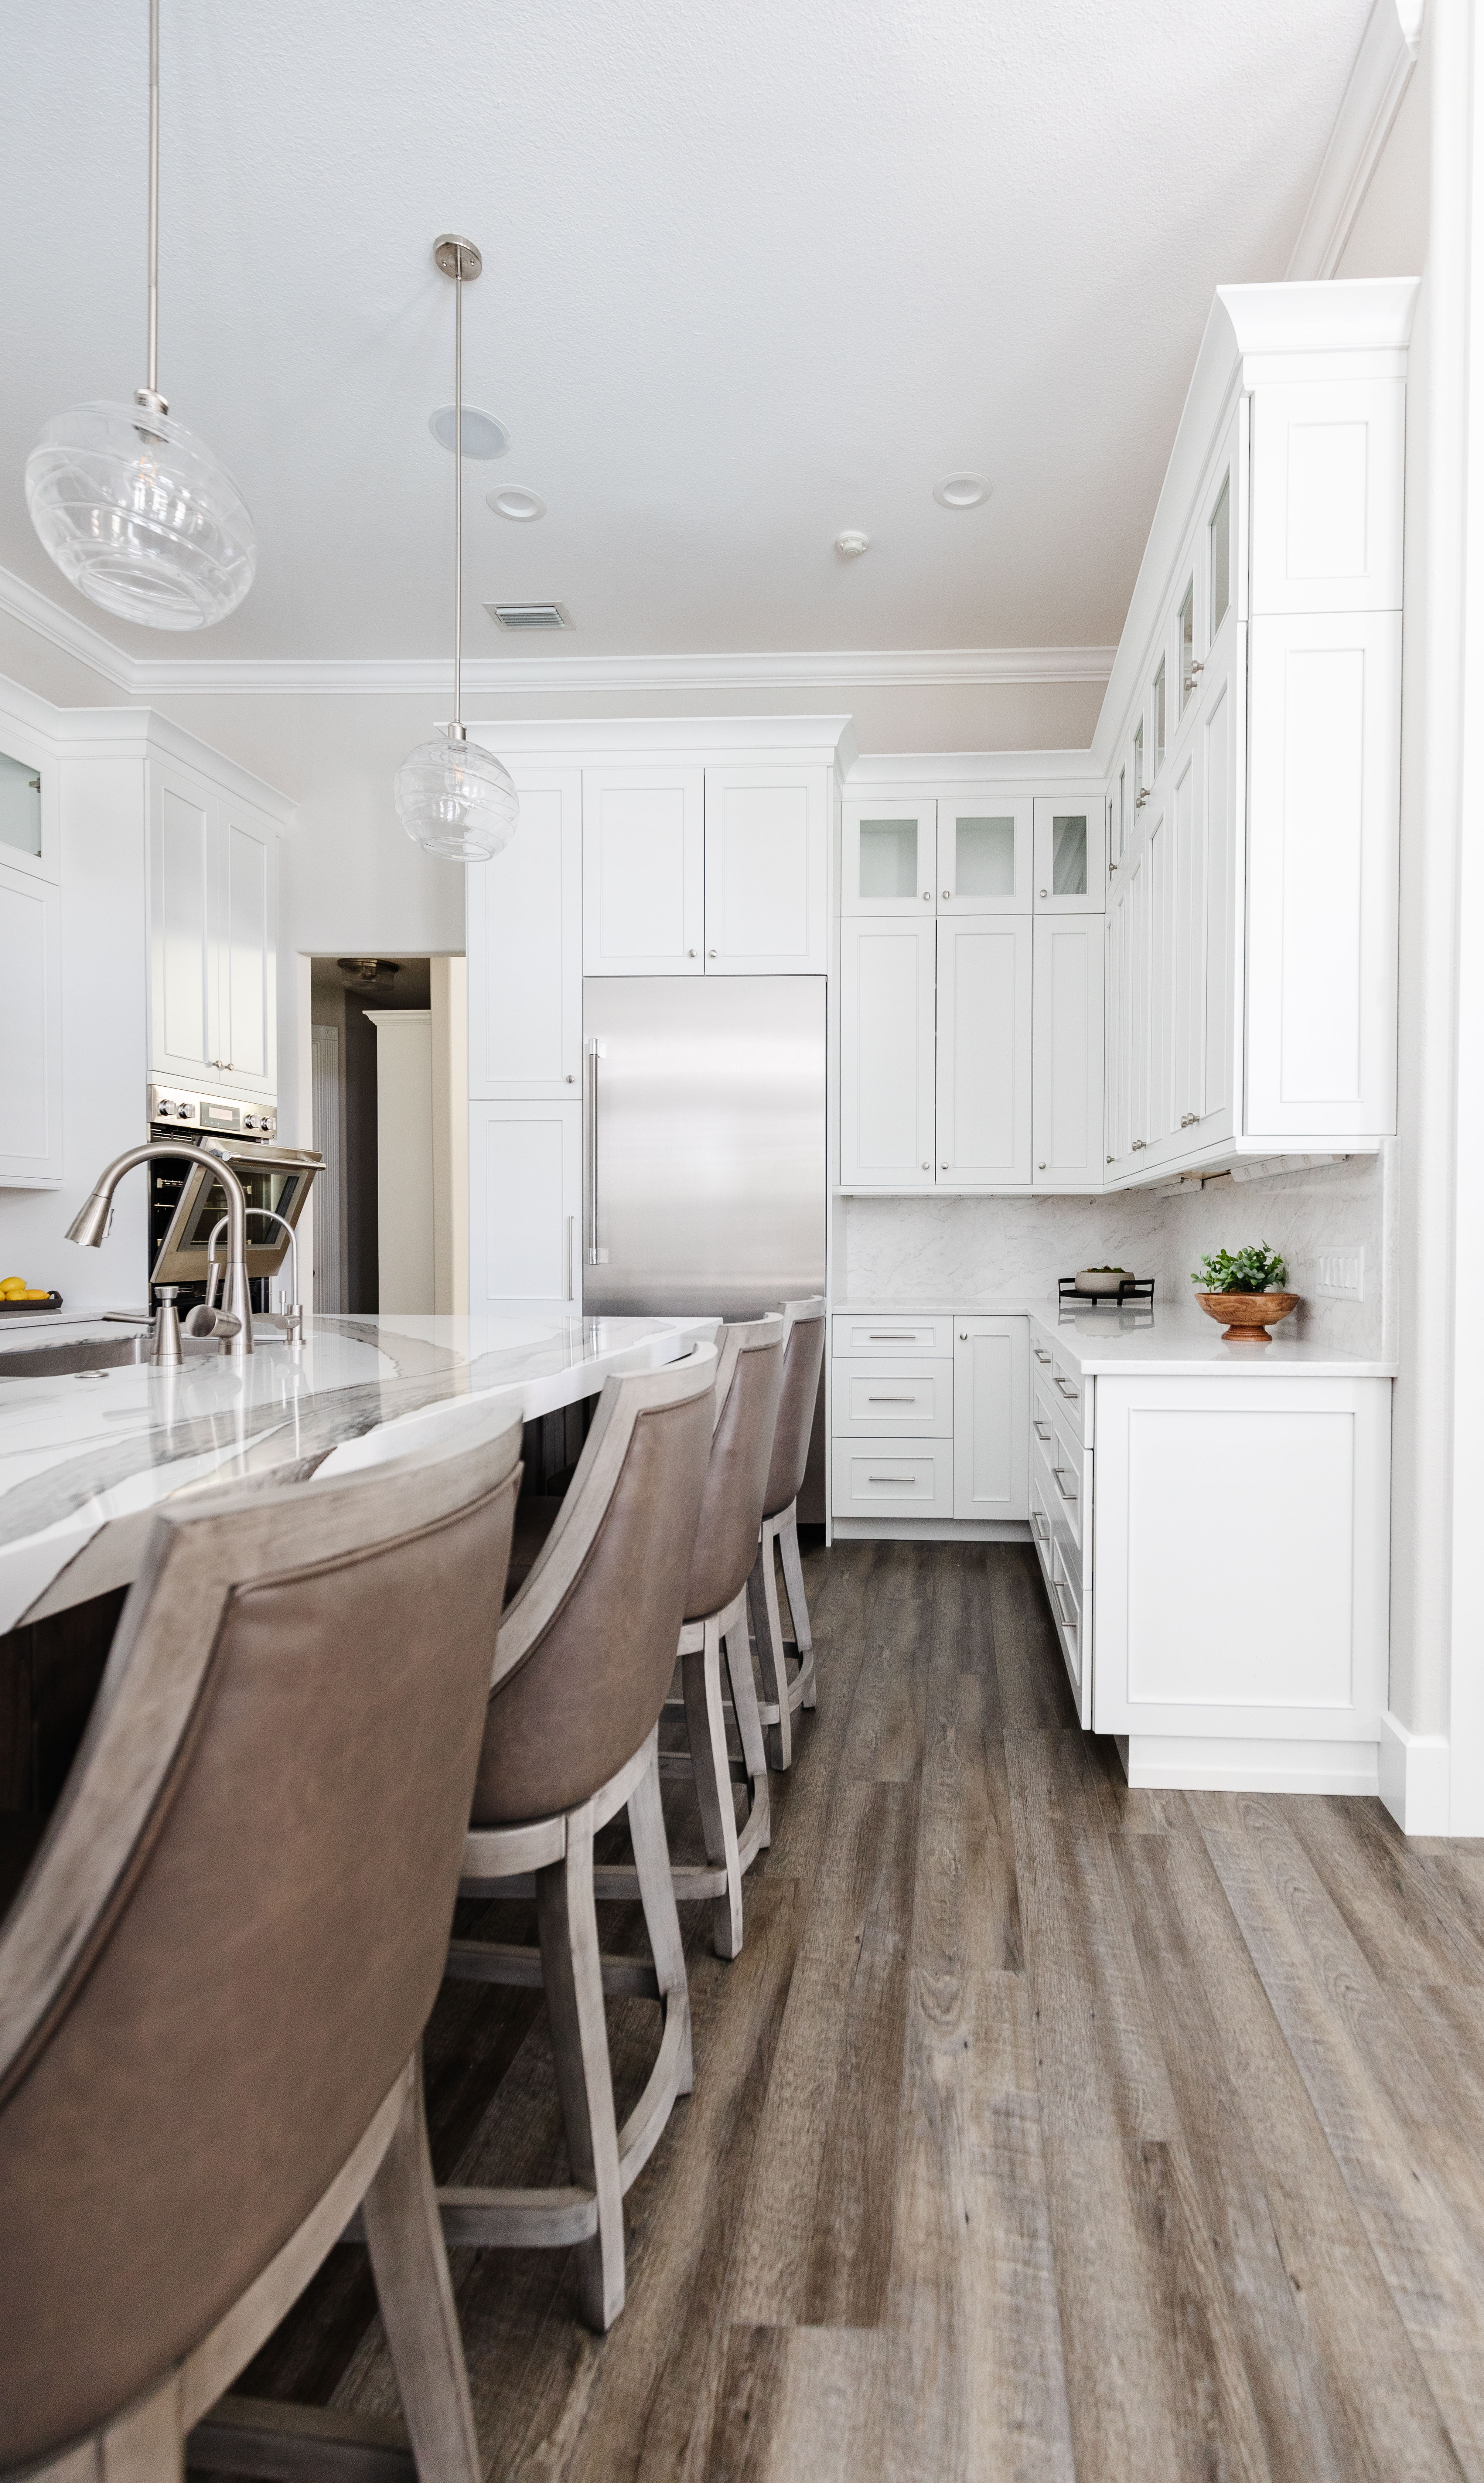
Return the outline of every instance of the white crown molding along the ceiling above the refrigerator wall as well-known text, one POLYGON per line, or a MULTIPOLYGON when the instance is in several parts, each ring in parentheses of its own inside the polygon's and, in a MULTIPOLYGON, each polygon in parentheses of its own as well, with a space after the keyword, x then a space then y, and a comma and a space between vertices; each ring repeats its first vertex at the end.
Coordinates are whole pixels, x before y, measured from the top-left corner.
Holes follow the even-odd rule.
MULTIPOLYGON (((92 665, 129 698, 447 698, 447 656, 127 656, 50 596, 0 569, 0 611, 92 665)), ((784 656, 474 656, 464 690, 945 690, 980 683, 1104 683, 1112 646, 831 648, 784 656)))

